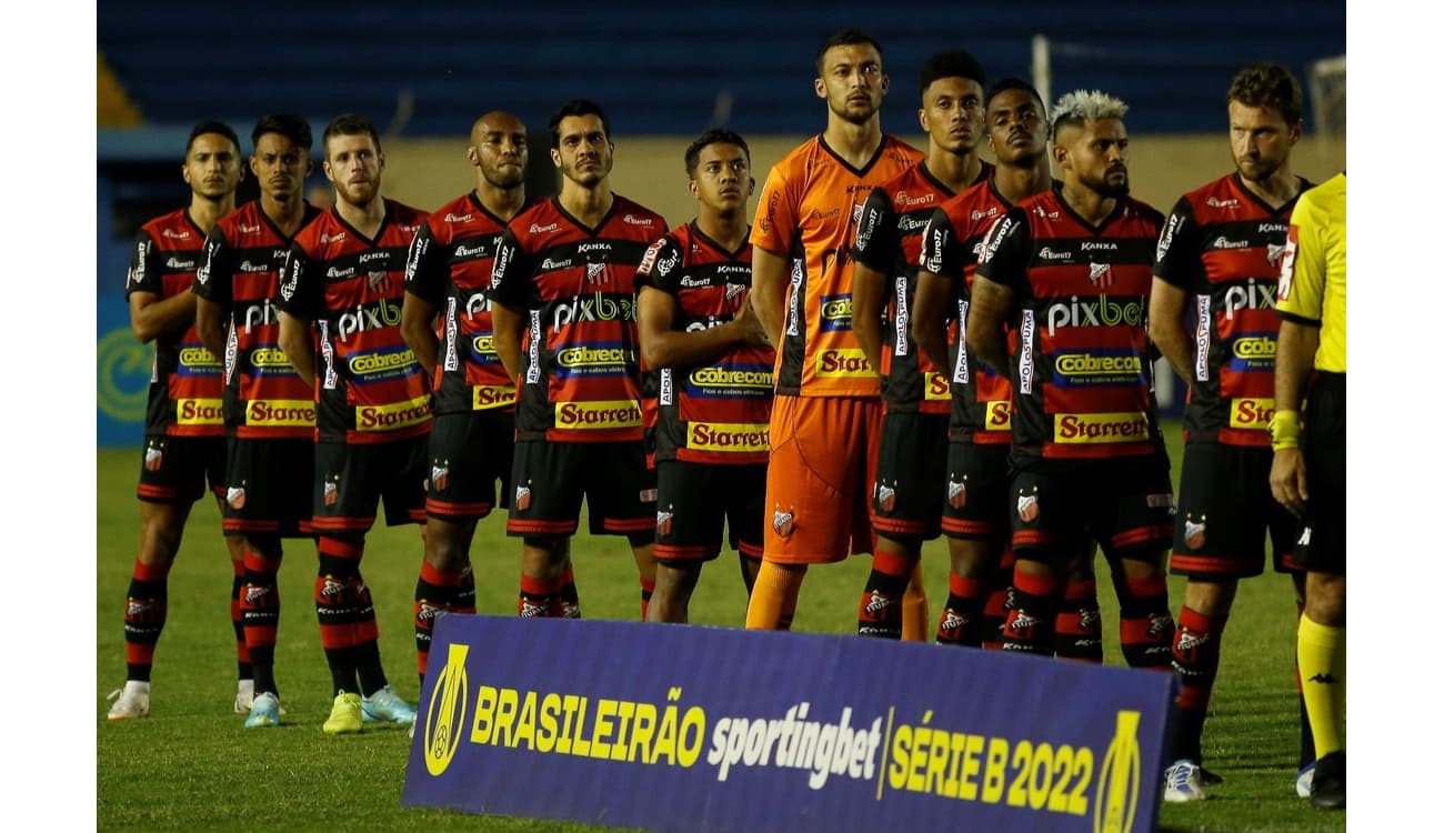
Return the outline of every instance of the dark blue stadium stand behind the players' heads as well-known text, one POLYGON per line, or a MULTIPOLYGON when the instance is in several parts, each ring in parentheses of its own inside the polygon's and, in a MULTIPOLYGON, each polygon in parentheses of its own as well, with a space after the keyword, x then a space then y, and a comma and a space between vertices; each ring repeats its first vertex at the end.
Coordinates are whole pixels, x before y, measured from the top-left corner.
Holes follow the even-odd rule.
MULTIPOLYGON (((469 118, 478 101, 543 123, 557 101, 580 95, 606 103, 618 134, 692 134, 712 124, 803 134, 816 128, 817 114, 799 105, 799 84, 810 81, 822 38, 846 26, 882 42, 888 72, 904 85, 927 55, 959 46, 992 77, 1028 77, 1031 39, 1044 33, 1058 91, 1099 87, 1121 95, 1134 105, 1136 133, 1199 133, 1217 130, 1219 91, 1239 65, 1278 61, 1302 78, 1311 61, 1346 46, 1341 0, 1216 0, 1207 20, 1193 4, 1105 13, 1056 0, 924 1, 905 14, 856 0, 725 7, 563 0, 504 12, 475 3, 399 12, 370 0, 303 3, 277 22, 227 6, 123 0, 97 7, 97 40, 150 123, 189 123, 202 113, 248 123, 293 110, 323 124, 351 110, 407 136, 453 134, 458 114, 469 118), (1255 25, 1262 16, 1276 23, 1255 25), (498 20, 505 30, 495 29, 498 20), (231 68, 230 79, 195 72, 193 52, 180 46, 199 43, 214 68, 231 68)), ((884 118, 891 130, 915 126, 901 107, 884 118)))

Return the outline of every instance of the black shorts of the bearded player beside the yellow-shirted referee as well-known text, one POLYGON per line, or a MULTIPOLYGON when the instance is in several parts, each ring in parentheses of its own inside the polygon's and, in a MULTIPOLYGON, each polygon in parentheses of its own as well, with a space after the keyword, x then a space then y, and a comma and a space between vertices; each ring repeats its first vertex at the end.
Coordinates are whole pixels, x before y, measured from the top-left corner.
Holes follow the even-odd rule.
POLYGON ((1268 448, 1188 443, 1178 479, 1178 515, 1168 570, 1197 579, 1243 579, 1264 572, 1264 537, 1274 544, 1274 569, 1292 562, 1298 524, 1268 485, 1268 448))

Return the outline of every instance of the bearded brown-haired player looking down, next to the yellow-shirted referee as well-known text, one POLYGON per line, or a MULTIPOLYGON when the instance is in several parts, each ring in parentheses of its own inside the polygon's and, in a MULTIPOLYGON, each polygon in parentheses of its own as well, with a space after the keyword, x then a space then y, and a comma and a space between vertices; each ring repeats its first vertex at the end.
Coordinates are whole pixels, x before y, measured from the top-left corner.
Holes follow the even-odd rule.
MULTIPOLYGON (((1227 110, 1236 170, 1178 199, 1158 241, 1148 303, 1148 335, 1188 384, 1170 566, 1188 577, 1173 644, 1183 690, 1165 801, 1204 798, 1203 723, 1223 628, 1239 579, 1264 572, 1265 537, 1274 569, 1291 572, 1304 595, 1289 557, 1294 517, 1268 489, 1274 292, 1289 212, 1310 188, 1289 166, 1304 128, 1302 90, 1276 64, 1249 66, 1233 77, 1227 110)), ((1300 709, 1302 716, 1302 699, 1300 709)), ((1314 754, 1301 723, 1307 777, 1314 754)))

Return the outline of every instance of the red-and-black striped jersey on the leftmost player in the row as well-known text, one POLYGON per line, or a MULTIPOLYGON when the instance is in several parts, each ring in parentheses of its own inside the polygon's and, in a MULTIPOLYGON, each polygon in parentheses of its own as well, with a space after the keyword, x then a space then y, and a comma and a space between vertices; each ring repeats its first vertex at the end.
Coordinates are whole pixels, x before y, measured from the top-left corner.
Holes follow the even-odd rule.
MULTIPOLYGON (((165 300, 188 292, 204 247, 205 232, 185 208, 142 225, 126 276, 126 297, 146 292, 165 300)), ((195 323, 157 335, 146 398, 146 436, 225 436, 222 410, 221 359, 201 344, 195 323)))

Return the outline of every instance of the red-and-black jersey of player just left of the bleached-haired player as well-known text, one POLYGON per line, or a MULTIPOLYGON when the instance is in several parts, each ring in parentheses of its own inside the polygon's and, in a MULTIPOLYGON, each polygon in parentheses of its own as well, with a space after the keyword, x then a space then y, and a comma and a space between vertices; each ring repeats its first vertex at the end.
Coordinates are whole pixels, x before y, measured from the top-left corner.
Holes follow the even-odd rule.
MULTIPOLYGON (((947 358, 952 364, 947 436, 953 442, 1012 442, 1012 383, 978 361, 963 338, 983 238, 1009 208, 1012 205, 998 193, 989 178, 937 206, 923 231, 920 269, 949 280, 953 287, 952 326, 947 329, 947 358)), ((1009 329, 1009 341, 1012 336, 1009 329)))

